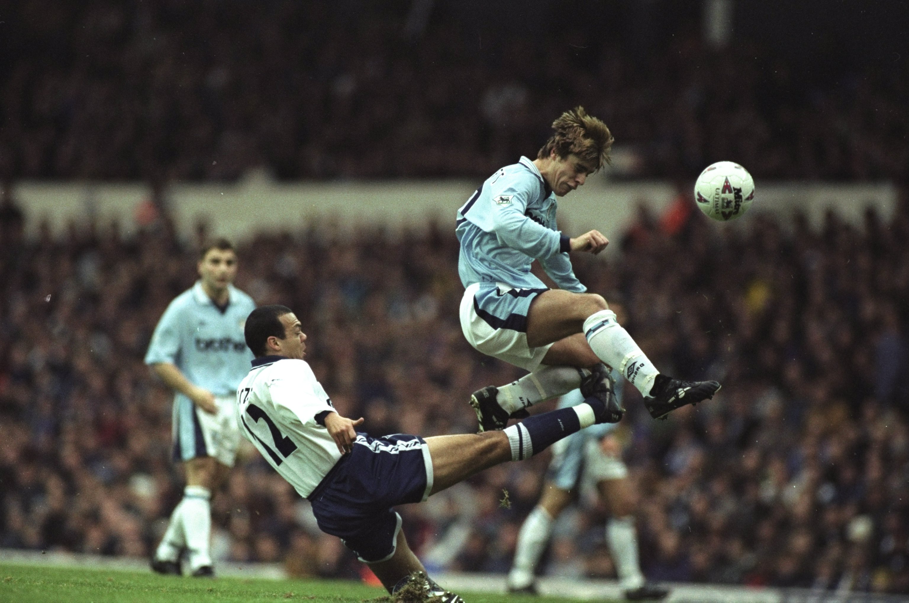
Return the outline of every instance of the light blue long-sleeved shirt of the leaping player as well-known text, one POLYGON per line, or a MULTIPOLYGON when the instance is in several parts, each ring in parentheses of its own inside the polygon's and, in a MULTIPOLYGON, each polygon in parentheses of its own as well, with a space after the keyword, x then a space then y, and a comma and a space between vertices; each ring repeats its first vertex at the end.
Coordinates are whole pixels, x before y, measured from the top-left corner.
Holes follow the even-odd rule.
POLYGON ((568 259, 568 237, 555 226, 555 195, 526 157, 490 176, 457 211, 464 287, 504 282, 519 289, 544 289, 530 272, 535 260, 561 288, 585 292, 568 259))

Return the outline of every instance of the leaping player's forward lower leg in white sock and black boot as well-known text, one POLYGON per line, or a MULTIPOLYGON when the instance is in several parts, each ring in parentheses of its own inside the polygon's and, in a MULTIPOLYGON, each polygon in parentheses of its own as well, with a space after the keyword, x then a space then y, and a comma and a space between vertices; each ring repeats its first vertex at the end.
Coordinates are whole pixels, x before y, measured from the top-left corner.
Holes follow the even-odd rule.
POLYGON ((671 410, 686 404, 713 398, 720 389, 716 381, 680 381, 660 374, 615 320, 614 311, 600 310, 587 317, 584 336, 598 358, 616 368, 641 392, 644 406, 654 419, 664 419, 671 410))

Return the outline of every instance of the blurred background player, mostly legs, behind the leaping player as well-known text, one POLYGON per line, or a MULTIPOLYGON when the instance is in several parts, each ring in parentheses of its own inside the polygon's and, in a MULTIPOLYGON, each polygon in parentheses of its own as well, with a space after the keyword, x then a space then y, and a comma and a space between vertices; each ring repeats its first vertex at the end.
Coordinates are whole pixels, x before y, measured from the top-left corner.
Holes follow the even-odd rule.
MULTIPOLYGON (((613 309, 624 319, 621 306, 614 304, 613 309)), ((618 371, 613 371, 610 377, 621 380, 618 371)), ((621 387, 616 388, 615 396, 620 404, 621 392, 621 387)), ((559 408, 574 406, 583 400, 580 390, 574 390, 559 400, 559 408)), ((622 460, 621 444, 612 434, 615 427, 614 424, 594 425, 554 444, 543 496, 524 520, 518 534, 514 565, 508 574, 509 592, 536 594, 534 570, 552 535, 554 520, 578 494, 582 481, 590 480, 596 484, 610 514, 606 522, 606 543, 625 598, 653 600, 669 594, 665 588, 644 582, 634 529, 637 497, 627 479, 628 469, 622 460)))

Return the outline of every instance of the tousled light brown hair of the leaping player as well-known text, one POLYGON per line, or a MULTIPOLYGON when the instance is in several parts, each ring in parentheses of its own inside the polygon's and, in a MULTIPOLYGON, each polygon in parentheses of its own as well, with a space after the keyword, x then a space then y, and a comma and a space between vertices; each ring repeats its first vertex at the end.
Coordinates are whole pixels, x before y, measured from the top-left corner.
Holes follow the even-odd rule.
POLYGON ((609 150, 613 146, 613 134, 602 120, 588 115, 584 107, 577 106, 559 115, 553 122, 555 133, 546 141, 538 159, 545 159, 555 151, 561 159, 574 153, 584 163, 590 164, 594 172, 611 163, 609 150))

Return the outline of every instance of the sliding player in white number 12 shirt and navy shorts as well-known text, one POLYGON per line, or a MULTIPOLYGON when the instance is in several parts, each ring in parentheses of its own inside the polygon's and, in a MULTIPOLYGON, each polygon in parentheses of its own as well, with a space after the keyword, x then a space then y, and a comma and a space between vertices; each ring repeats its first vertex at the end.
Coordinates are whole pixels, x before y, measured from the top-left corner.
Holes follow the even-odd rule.
MULTIPOLYGON (((246 319, 253 368, 237 389, 240 429, 281 476, 309 499, 319 529, 342 539, 389 592, 425 568, 407 545, 393 507, 420 502, 474 473, 529 459, 554 442, 608 418, 604 402, 530 417, 505 430, 420 438, 357 433, 363 419, 339 415, 303 360, 306 336, 285 306, 246 319)), ((461 598, 427 578, 445 603, 461 598)))

